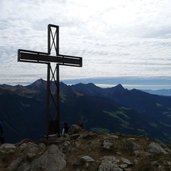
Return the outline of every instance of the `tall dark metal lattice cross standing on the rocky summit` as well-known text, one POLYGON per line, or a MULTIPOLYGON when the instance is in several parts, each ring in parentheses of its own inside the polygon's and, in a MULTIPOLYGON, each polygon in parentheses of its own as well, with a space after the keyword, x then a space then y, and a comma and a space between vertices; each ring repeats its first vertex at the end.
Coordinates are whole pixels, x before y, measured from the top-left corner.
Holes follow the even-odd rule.
POLYGON ((47 64, 47 138, 50 134, 58 133, 60 136, 60 83, 59 83, 59 65, 82 67, 82 58, 59 54, 59 26, 48 25, 48 52, 37 52, 30 50, 18 50, 19 62, 31 62, 47 64), (51 55, 55 50, 55 56, 51 55), (56 63, 55 69, 51 63, 56 63), (52 92, 52 85, 56 86, 56 97, 52 92), (54 104, 56 112, 51 112, 51 103, 54 104))

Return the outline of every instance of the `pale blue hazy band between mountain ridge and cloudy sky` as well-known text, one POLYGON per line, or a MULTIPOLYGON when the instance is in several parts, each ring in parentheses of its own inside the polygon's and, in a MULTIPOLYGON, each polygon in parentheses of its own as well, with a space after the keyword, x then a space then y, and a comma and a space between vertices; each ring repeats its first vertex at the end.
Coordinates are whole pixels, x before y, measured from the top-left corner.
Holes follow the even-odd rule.
MULTIPOLYGON (((23 85, 27 86, 32 84, 33 82, 43 79, 38 78, 36 80, 6 80, 4 82, 0 82, 0 85, 7 84, 7 85, 23 85)), ((107 87, 114 87, 118 84, 122 84, 124 88, 127 89, 140 89, 140 90, 161 90, 161 89, 171 89, 171 77, 97 77, 97 78, 80 78, 80 79, 68 79, 68 80, 60 80, 61 82, 72 85, 72 84, 88 84, 93 83, 98 87, 107 88, 107 87)))

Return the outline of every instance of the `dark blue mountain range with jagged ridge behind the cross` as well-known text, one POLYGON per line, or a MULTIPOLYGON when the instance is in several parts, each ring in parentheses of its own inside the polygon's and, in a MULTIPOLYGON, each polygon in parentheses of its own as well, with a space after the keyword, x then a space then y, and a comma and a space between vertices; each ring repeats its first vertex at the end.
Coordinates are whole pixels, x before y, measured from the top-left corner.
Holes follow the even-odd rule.
MULTIPOLYGON (((82 120, 90 130, 145 135, 171 142, 171 97, 128 90, 121 84, 100 88, 92 83, 61 83, 60 87, 62 122, 82 120)), ((46 81, 42 79, 28 86, 0 85, 0 120, 7 141, 44 136, 45 100, 46 81)))

